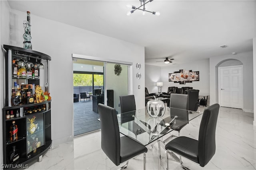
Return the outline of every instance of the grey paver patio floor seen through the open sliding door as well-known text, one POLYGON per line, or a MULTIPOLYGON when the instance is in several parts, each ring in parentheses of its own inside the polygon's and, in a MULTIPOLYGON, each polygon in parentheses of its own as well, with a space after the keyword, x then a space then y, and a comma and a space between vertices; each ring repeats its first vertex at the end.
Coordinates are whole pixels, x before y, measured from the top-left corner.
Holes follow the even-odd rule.
POLYGON ((92 100, 74 102, 74 136, 100 129, 99 114, 92 111, 92 100))

